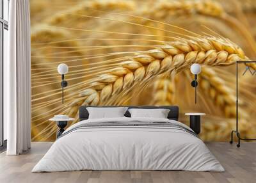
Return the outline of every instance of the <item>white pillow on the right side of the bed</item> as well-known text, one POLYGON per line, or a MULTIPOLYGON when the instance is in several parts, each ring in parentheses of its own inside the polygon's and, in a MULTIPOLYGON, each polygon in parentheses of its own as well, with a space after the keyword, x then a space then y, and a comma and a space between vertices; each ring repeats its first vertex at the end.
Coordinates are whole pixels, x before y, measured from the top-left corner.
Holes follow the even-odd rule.
POLYGON ((170 109, 128 109, 131 118, 167 118, 170 109))

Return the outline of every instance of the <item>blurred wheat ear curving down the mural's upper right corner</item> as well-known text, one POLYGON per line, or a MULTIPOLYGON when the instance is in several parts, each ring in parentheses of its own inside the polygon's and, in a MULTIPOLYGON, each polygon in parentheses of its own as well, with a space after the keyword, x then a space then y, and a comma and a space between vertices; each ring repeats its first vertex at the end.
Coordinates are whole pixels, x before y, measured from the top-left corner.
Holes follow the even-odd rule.
MULTIPOLYGON (((241 35, 244 36, 250 48, 255 53, 256 43, 248 29, 244 27, 239 20, 228 15, 220 3, 211 0, 199 0, 199 1, 160 1, 156 8, 148 8, 143 12, 143 17, 149 19, 166 19, 170 15, 206 15, 216 17, 227 23, 227 25, 233 26, 241 35)), ((144 19, 145 22, 150 22, 148 19, 144 19)))

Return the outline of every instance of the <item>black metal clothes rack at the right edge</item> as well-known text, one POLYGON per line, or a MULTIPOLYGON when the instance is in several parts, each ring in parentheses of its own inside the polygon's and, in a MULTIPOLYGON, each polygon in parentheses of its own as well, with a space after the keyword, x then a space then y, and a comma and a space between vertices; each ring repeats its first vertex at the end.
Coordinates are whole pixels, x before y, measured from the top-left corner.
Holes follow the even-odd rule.
MULTIPOLYGON (((236 61, 236 131, 232 131, 231 132, 231 140, 230 140, 230 144, 233 143, 233 133, 236 133, 236 136, 238 138, 238 143, 237 143, 237 147, 240 147, 240 141, 241 140, 247 140, 247 141, 251 141, 251 140, 256 140, 256 139, 246 139, 246 138, 241 138, 240 137, 240 133, 238 131, 238 64, 239 63, 256 63, 256 61, 236 61)), ((247 69, 247 68, 246 68, 247 69)), ((245 71, 246 72, 246 71, 245 71)), ((244 72, 244 74, 245 74, 244 72)), ((254 72, 251 72, 251 74, 253 74, 254 72)))

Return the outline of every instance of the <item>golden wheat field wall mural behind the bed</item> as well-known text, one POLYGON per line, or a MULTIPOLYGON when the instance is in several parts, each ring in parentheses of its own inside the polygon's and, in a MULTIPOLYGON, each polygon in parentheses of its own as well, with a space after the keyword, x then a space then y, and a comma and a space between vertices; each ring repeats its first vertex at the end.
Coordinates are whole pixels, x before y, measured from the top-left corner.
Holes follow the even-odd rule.
MULTIPOLYGON (((256 59, 251 0, 31 0, 33 141, 54 141, 49 118, 79 106, 177 105, 200 112, 200 138, 229 141, 236 126, 236 61, 256 59), (57 67, 68 65, 64 104, 57 67), (198 102, 193 63, 202 65, 198 102)), ((256 65, 248 65, 253 71, 256 65)), ((255 138, 256 76, 239 66, 239 129, 255 138)), ((70 123, 71 124, 71 123, 70 123)))

